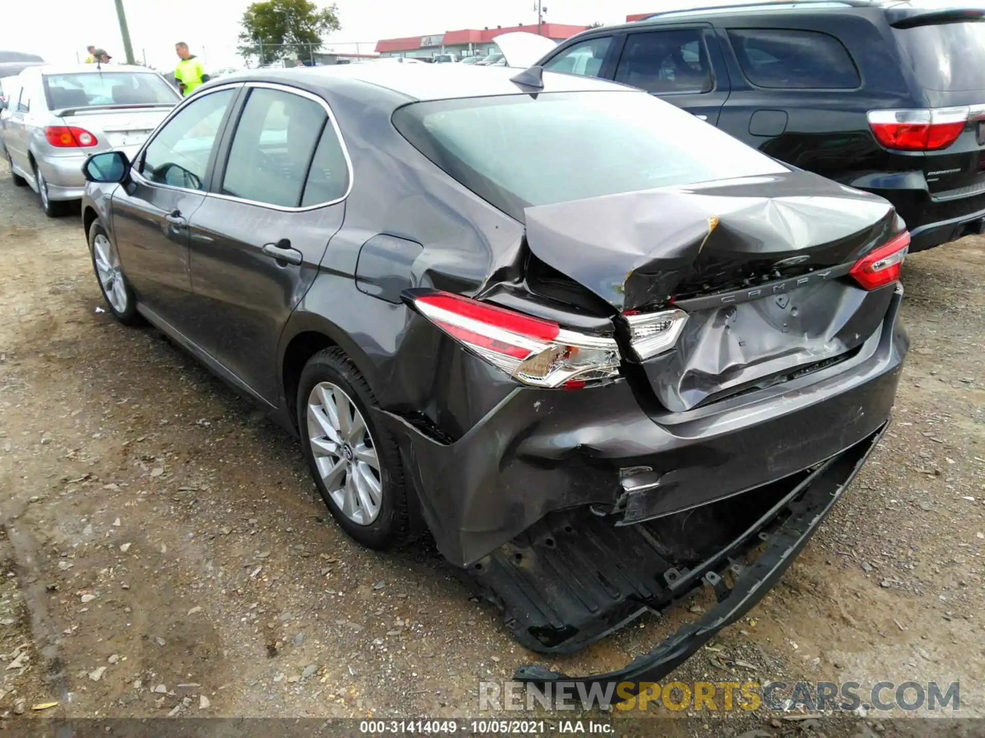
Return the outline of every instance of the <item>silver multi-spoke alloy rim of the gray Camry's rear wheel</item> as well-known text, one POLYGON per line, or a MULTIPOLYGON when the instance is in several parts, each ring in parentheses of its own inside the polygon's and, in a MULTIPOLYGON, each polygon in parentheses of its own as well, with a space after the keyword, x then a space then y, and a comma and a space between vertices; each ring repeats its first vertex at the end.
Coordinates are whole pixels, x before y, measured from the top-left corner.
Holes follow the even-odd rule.
POLYGON ((376 444, 356 403, 338 385, 319 382, 308 395, 307 429, 329 498, 353 523, 375 521, 383 503, 383 477, 376 444))

